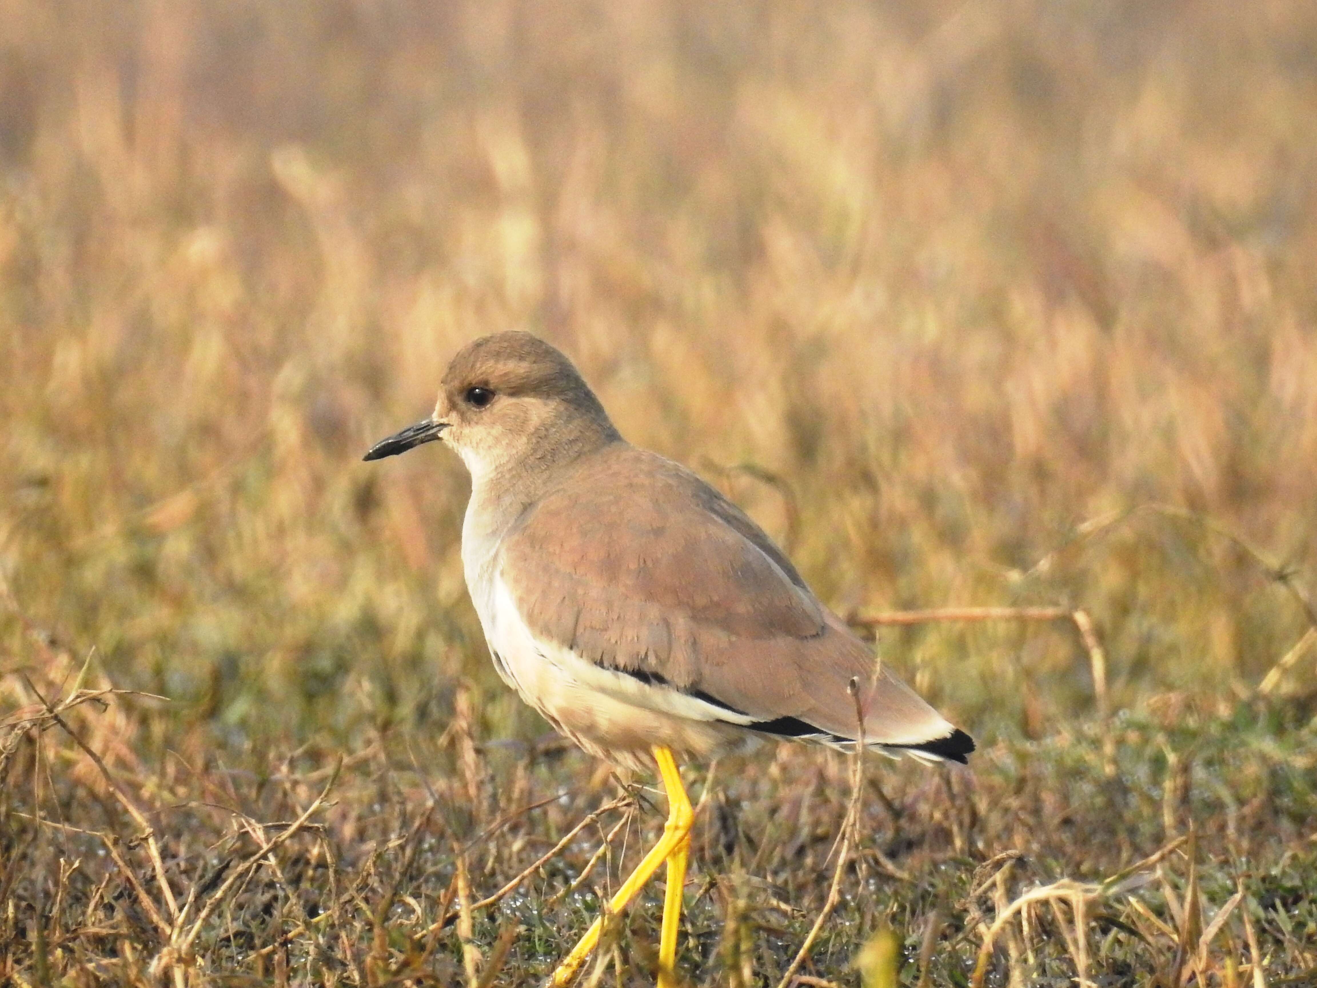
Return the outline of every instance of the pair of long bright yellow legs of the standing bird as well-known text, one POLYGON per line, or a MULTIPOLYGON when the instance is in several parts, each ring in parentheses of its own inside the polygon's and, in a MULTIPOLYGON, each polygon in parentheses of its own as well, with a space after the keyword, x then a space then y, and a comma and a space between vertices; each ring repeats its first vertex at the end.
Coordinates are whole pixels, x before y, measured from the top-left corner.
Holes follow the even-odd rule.
MULTIPOLYGON (((681 919, 681 889, 686 880, 686 852, 690 847, 690 825, 695 819, 695 811, 690 808, 686 789, 681 784, 681 773, 677 771, 677 761, 672 751, 664 747, 653 750, 655 761, 658 763, 658 776, 662 779, 664 790, 668 793, 668 822, 664 825, 662 837, 658 843, 644 856, 639 867, 622 883, 622 888, 608 902, 608 910, 620 913, 636 893, 644 888, 658 865, 668 862, 668 889, 664 898, 662 934, 658 941, 658 985, 669 988, 673 984, 672 967, 677 958, 677 923, 681 919)), ((561 988, 572 981, 581 964, 590 955, 599 942, 599 931, 603 929, 603 917, 594 921, 585 937, 572 948, 566 959, 558 964, 557 971, 549 984, 561 988)))

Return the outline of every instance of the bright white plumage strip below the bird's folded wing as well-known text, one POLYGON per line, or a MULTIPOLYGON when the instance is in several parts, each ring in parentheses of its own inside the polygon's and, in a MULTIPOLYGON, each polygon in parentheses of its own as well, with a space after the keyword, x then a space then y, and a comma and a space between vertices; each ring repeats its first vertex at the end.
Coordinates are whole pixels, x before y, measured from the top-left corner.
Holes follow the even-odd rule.
POLYGON ((753 717, 710 703, 657 682, 595 665, 569 647, 537 638, 522 618, 500 576, 490 581, 486 606, 477 605, 499 676, 541 711, 561 718, 564 705, 612 701, 687 721, 751 725, 753 717))

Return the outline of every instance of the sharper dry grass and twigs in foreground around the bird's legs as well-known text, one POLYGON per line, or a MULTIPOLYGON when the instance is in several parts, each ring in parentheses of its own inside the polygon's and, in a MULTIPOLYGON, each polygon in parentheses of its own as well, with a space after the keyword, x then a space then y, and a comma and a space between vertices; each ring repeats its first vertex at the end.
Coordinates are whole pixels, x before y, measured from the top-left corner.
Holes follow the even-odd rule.
MULTIPOLYGON (((661 827, 653 790, 562 744, 477 743, 466 693, 441 736, 230 756, 61 668, 25 681, 37 702, 0 747, 18 983, 539 983, 661 827), (153 732, 176 747, 148 760, 153 732)), ((856 786, 792 747, 710 773, 691 773, 693 984, 846 984, 853 963, 867 985, 1317 976, 1317 746, 1262 706, 1168 700, 1000 740, 973 773, 902 763, 856 786), (860 950, 893 929, 903 954, 860 950)), ((652 979, 657 906, 606 938, 605 983, 652 979)))

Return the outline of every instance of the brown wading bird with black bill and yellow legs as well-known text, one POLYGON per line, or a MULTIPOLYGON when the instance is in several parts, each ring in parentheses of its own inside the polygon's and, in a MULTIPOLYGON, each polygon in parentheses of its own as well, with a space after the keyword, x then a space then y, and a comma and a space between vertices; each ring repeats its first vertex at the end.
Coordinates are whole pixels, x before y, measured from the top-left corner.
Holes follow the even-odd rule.
MULTIPOLYGON (((627 443, 572 361, 527 332, 477 339, 433 414, 365 454, 443 441, 471 477, 466 586, 498 674, 590 755, 657 768, 662 837, 610 904, 666 865, 660 988, 674 988, 694 811, 678 761, 792 739, 965 763, 975 750, 878 663, 751 518, 627 443)), ((556 967, 568 985, 597 919, 556 967)))

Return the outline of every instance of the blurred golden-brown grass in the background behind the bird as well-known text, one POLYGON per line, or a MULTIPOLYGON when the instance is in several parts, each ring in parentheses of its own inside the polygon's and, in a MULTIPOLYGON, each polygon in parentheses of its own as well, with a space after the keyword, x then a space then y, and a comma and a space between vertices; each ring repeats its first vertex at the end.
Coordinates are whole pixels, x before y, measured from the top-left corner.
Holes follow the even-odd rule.
MULTIPOLYGON (((1122 512, 1310 599, 1314 134, 1301 0, 9 0, 4 663, 95 647, 225 746, 464 680, 539 735, 461 465, 360 462, 528 328, 839 611, 1083 606, 1115 706, 1234 702, 1303 607, 1122 512)), ((1093 707, 1064 626, 882 642, 986 743, 1093 707)))

